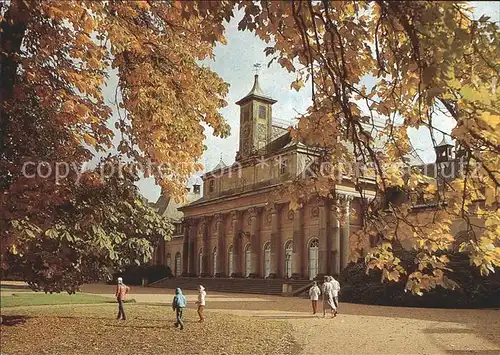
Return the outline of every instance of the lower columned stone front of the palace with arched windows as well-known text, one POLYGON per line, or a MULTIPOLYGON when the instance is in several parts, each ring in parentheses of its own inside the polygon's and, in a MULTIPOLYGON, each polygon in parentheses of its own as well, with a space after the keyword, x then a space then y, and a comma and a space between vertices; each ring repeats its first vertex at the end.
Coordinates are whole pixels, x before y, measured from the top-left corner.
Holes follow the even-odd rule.
MULTIPOLYGON (((348 262, 349 235, 360 228, 349 214, 356 199, 341 195, 340 211, 325 200, 291 211, 286 201, 268 203, 270 189, 183 208, 182 250, 188 256, 184 274, 261 278, 338 274, 348 262), (195 214, 197 210, 203 214, 195 214)), ((181 249, 178 242, 169 244, 172 251, 181 249)))

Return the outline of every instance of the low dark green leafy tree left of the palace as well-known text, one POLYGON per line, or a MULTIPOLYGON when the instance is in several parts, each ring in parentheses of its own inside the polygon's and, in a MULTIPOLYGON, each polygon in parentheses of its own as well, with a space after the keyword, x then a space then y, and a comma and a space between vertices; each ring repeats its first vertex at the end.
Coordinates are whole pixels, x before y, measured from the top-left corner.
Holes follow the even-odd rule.
POLYGON ((51 223, 13 221, 16 243, 7 272, 22 275, 35 290, 76 292, 84 283, 151 260, 172 224, 138 193, 138 171, 116 158, 87 171, 68 201, 52 210, 51 223), (108 173, 101 179, 103 165, 108 173))

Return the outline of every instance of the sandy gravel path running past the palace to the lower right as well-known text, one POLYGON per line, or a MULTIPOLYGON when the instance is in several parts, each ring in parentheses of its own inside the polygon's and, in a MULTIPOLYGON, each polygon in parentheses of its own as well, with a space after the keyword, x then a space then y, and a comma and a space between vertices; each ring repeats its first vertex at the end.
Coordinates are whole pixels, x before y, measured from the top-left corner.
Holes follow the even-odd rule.
MULTIPOLYGON (((109 293, 107 287, 88 285, 84 291, 109 293)), ((158 302, 173 295, 173 290, 160 290, 134 288, 131 297, 158 302)), ((194 308, 196 291, 185 292, 194 308)), ((216 313, 288 322, 304 354, 500 354, 500 310, 343 303, 336 318, 323 319, 311 314, 307 299, 207 292, 207 309, 216 313)))

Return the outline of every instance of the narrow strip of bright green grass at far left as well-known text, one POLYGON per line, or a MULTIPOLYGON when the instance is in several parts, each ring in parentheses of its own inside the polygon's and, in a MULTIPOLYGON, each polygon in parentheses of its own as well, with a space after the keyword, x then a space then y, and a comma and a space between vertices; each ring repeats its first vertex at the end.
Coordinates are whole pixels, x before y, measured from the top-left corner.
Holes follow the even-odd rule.
POLYGON ((39 306, 56 304, 92 304, 114 302, 112 298, 96 295, 77 293, 69 295, 67 293, 46 294, 43 292, 20 292, 12 296, 2 295, 0 305, 2 308, 19 306, 39 306))

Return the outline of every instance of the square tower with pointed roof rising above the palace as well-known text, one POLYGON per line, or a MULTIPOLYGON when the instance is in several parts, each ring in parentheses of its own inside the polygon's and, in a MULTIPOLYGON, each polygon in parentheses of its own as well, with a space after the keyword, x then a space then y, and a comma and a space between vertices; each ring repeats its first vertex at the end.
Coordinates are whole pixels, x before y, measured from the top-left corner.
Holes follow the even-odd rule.
POLYGON ((264 148, 272 136, 272 105, 276 100, 266 96, 255 74, 252 90, 236 102, 240 106, 240 145, 236 160, 243 160, 264 148))

